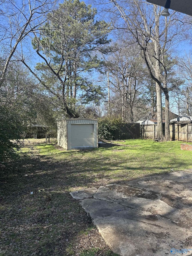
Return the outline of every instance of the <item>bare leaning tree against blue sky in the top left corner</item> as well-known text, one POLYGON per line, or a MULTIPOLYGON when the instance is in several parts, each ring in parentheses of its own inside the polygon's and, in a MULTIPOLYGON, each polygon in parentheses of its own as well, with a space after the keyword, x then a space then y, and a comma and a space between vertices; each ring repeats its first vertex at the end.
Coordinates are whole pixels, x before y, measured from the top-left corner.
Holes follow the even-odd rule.
POLYGON ((22 2, 0 2, 1 23, 0 44, 4 56, 4 68, 0 75, 0 88, 5 80, 8 65, 13 59, 19 43, 46 21, 47 13, 55 1, 24 0, 22 2))

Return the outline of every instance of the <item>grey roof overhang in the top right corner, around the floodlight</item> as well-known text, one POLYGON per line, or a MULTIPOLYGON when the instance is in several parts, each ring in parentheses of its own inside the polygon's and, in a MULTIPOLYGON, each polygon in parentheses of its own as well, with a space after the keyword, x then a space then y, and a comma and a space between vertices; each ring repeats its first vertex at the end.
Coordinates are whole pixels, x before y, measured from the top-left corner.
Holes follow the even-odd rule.
MULTIPOLYGON (((166 4, 166 0, 147 0, 147 2, 155 5, 160 5, 163 7, 166 4)), ((192 8, 191 8, 190 0, 172 0, 170 4, 170 9, 192 16, 192 8)))

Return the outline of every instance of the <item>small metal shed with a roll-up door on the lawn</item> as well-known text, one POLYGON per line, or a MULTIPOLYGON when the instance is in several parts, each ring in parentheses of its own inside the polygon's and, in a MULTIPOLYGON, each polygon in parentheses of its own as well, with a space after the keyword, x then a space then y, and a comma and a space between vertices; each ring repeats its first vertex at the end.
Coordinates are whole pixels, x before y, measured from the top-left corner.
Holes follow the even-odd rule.
POLYGON ((57 144, 64 149, 97 148, 98 120, 72 118, 58 121, 57 144))

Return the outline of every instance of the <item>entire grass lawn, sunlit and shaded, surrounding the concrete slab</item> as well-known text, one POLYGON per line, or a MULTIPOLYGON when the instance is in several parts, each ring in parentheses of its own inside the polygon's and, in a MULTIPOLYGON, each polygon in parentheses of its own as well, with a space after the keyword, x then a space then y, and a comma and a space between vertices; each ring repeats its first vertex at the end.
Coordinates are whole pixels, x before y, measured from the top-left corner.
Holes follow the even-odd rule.
POLYGON ((181 143, 126 140, 66 151, 26 141, 20 158, 0 166, 0 256, 117 255, 69 192, 192 168, 181 143))

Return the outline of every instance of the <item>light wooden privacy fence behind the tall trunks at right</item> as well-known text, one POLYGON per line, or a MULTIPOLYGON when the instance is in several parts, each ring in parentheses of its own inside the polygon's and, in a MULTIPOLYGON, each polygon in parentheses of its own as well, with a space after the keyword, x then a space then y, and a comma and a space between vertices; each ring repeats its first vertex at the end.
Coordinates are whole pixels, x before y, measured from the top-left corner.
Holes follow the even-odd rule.
MULTIPOLYGON (((165 125, 163 126, 163 132, 165 125)), ((155 139, 157 135, 157 124, 140 125, 140 134, 143 139, 155 139)), ((171 140, 192 141, 192 123, 170 124, 171 140)))

